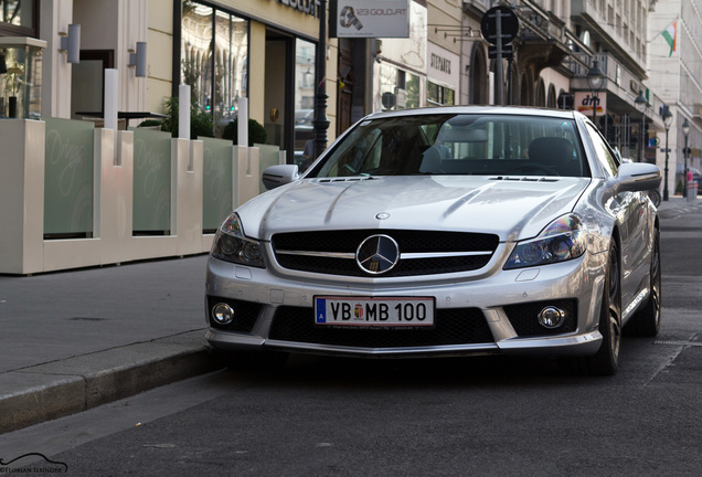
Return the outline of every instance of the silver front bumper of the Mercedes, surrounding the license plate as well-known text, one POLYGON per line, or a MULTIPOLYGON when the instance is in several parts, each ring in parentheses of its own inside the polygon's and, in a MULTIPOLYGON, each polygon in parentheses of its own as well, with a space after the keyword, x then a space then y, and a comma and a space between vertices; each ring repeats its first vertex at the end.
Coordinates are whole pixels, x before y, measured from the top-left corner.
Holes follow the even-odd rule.
POLYGON ((603 262, 603 254, 586 253, 576 261, 499 269, 487 276, 483 272, 475 277, 344 280, 281 276, 211 257, 206 339, 222 351, 279 350, 357 357, 592 354, 602 342, 597 327, 603 262), (319 330, 312 311, 317 295, 432 296, 436 299, 437 329, 425 335, 414 330, 319 330), (241 320, 231 326, 214 322, 210 309, 221 301, 238 306, 241 320), (538 324, 538 310, 550 304, 570 306, 567 326, 550 330, 538 324), (445 325, 451 328, 446 329, 445 325))

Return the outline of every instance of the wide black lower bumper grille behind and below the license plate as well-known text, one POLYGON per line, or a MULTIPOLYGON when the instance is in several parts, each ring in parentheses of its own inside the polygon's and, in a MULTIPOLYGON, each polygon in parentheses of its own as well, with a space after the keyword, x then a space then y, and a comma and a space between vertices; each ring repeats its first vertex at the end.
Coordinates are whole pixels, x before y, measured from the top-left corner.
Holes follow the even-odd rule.
POLYGON ((281 341, 357 348, 402 348, 494 342, 478 308, 436 310, 430 329, 352 329, 315 325, 312 308, 279 307, 268 337, 281 341))

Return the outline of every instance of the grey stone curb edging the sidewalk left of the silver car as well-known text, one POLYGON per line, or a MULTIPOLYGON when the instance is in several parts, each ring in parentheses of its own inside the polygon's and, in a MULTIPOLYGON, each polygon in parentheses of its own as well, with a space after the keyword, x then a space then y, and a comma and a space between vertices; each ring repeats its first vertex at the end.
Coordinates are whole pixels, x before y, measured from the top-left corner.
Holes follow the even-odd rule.
POLYGON ((0 434, 215 371, 204 329, 0 374, 0 434))

